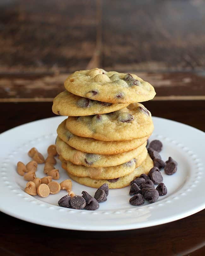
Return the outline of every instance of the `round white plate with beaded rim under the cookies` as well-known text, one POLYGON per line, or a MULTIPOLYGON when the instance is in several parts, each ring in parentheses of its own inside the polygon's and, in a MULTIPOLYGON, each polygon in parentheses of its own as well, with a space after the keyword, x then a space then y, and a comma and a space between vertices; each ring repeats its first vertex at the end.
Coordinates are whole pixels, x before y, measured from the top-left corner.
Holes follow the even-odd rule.
MULTIPOLYGON (((108 200, 96 211, 73 210, 57 205, 66 194, 61 191, 47 198, 30 196, 24 192, 26 181, 16 172, 16 163, 31 161, 27 152, 36 147, 45 157, 47 147, 55 143, 56 128, 65 117, 54 117, 18 126, 0 135, 0 210, 16 218, 50 227, 74 230, 138 229, 178 220, 205 208, 204 145, 205 135, 188 125, 153 117, 155 132, 152 139, 163 143, 161 156, 172 156, 178 162, 174 175, 162 171, 168 193, 156 203, 142 206, 129 204, 129 187, 109 190, 108 200)), ((45 176, 39 165, 37 177, 45 176)), ((61 178, 67 179, 60 169, 61 178)), ((85 190, 94 195, 96 189, 73 181, 73 191, 81 195, 85 190)))

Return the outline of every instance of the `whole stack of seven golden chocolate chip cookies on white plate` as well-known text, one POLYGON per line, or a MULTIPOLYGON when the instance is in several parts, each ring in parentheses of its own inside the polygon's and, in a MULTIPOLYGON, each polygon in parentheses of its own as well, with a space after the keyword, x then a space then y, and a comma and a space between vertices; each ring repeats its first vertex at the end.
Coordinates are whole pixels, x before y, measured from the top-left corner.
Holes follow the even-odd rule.
POLYGON ((146 144, 154 130, 151 113, 140 103, 155 90, 134 74, 102 69, 76 71, 52 110, 68 116, 57 128, 57 152, 71 179, 109 188, 128 186, 153 167, 146 144))

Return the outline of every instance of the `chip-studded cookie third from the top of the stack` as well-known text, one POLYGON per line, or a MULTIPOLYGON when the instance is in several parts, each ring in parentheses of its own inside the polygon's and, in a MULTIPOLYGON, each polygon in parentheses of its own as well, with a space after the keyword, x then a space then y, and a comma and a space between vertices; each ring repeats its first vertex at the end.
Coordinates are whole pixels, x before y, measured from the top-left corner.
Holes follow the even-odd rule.
POLYGON ((151 113, 140 103, 108 114, 68 117, 66 126, 77 136, 102 141, 143 138, 154 130, 151 113))

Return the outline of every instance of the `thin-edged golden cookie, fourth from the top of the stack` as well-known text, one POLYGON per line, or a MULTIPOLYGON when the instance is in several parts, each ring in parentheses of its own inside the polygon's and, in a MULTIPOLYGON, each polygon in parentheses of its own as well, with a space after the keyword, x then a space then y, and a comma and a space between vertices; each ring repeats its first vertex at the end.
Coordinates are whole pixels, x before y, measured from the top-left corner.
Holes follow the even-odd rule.
POLYGON ((147 136, 141 139, 127 141, 100 141, 92 138, 83 138, 76 136, 67 130, 66 120, 58 126, 57 134, 62 141, 75 149, 86 153, 100 155, 113 155, 136 149, 149 138, 149 136, 147 136))

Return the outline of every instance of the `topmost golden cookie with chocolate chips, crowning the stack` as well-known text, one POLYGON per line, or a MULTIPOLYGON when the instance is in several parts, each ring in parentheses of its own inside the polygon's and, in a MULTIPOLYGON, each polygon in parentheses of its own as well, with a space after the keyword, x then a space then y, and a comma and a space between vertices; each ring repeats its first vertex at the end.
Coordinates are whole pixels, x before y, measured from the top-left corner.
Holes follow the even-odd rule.
POLYGON ((151 84, 134 74, 106 72, 98 68, 74 72, 64 86, 81 97, 110 103, 149 101, 156 94, 151 84))

